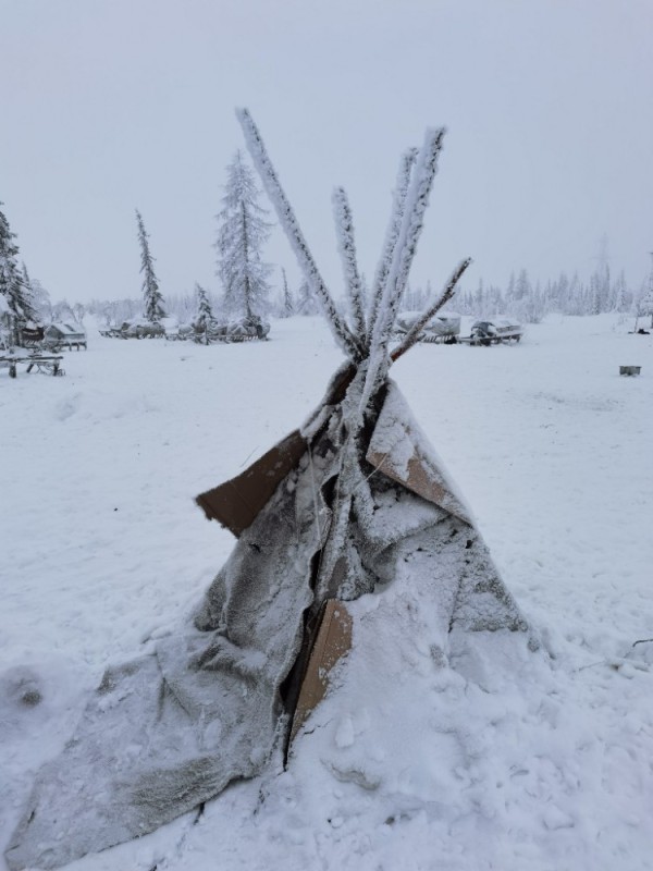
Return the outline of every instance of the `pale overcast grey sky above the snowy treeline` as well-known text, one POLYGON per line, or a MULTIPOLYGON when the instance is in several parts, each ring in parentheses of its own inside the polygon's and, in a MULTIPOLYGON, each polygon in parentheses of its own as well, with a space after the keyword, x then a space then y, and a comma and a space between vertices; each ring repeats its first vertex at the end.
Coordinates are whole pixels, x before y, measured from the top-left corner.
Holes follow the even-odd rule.
MULTIPOLYGON (((373 273, 398 157, 448 134, 412 280, 589 274, 653 249, 653 0, 0 0, 0 200, 53 299, 219 291, 224 168, 250 109, 341 295, 331 189, 373 273)), ((279 231, 268 259, 298 271, 279 231)))

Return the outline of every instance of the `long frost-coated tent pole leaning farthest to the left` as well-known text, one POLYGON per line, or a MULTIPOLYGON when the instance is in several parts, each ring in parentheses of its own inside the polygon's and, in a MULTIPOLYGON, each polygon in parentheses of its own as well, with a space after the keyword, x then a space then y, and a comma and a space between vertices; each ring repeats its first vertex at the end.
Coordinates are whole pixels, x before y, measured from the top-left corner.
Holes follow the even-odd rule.
POLYGON ((257 168, 263 187, 266 188, 270 201, 274 206, 279 222, 285 231, 285 234, 291 243, 295 256, 299 263, 299 268, 304 273, 311 291, 320 300, 324 316, 331 326, 331 330, 335 336, 336 342, 343 348, 345 354, 352 360, 360 360, 362 357, 361 343, 350 333, 345 320, 340 316, 335 303, 320 272, 312 258, 308 244, 304 237, 304 233, 299 228, 299 223, 295 218, 295 213, 288 199, 281 186, 276 171, 272 165, 272 161, 266 150, 266 145, 261 138, 258 127, 254 123, 251 115, 247 109, 237 109, 236 116, 243 127, 245 134, 245 142, 251 156, 255 167, 257 168))

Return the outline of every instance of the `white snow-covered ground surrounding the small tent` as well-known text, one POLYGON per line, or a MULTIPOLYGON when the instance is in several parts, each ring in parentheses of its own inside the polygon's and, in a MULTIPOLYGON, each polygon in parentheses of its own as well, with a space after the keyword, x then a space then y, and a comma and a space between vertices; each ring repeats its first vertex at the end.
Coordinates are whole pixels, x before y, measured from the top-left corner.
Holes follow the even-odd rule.
MULTIPOLYGON (((631 327, 553 317, 518 346, 419 346, 394 371, 546 652, 488 642, 472 672, 434 675, 416 639, 372 639, 287 772, 70 868, 653 868, 653 645, 632 647, 653 638, 653 335, 631 327)), ((326 329, 271 335, 91 336, 65 378, 0 370, 2 845, 106 665, 182 619, 230 552, 193 496, 319 402, 326 329), (10 698, 25 673, 34 707, 10 698)))

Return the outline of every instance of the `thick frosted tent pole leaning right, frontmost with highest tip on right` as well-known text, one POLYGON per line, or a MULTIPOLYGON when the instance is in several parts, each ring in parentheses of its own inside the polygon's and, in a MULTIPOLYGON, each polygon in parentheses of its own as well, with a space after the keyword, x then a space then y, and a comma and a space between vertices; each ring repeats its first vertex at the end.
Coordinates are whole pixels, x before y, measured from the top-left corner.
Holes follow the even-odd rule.
POLYGON ((399 303, 410 273, 410 267, 421 235, 429 194, 438 171, 438 157, 442 149, 444 127, 428 130, 415 171, 410 180, 402 229, 395 245, 392 265, 385 282, 379 314, 370 343, 370 365, 361 396, 361 410, 367 406, 379 384, 387 375, 390 355, 387 345, 399 310, 399 303))

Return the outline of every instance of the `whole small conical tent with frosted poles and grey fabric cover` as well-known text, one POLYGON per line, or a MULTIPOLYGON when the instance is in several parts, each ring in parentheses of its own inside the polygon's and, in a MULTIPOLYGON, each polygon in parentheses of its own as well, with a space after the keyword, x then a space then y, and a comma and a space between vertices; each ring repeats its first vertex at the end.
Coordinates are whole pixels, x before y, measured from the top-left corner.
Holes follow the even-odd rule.
MULTIPOLYGON (((320 710, 337 709, 338 699, 365 692, 371 709, 382 701, 391 719, 406 722, 406 682, 419 672, 423 687, 410 684, 419 695, 438 675, 478 671, 478 639, 498 638, 527 658, 538 647, 469 508, 387 378, 469 263, 391 349, 444 132, 428 131, 422 148, 402 157, 367 311, 352 213, 336 189, 348 322, 254 121, 245 110, 238 116, 347 359, 303 427, 197 498, 237 543, 187 621, 148 653, 107 670, 74 738, 37 775, 5 854, 12 871, 56 868, 144 835, 233 781, 292 765, 307 745, 328 759, 320 710)), ((417 737, 402 735, 402 746, 417 737)), ((367 741, 354 747, 341 735, 336 744, 347 760, 334 763, 334 776, 377 788, 367 741)))

